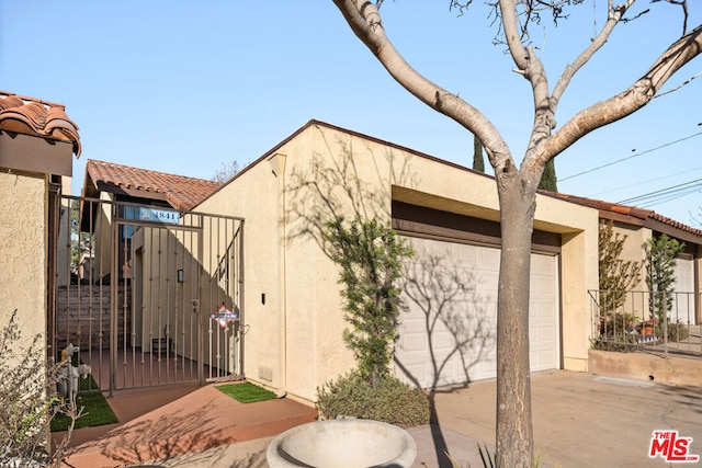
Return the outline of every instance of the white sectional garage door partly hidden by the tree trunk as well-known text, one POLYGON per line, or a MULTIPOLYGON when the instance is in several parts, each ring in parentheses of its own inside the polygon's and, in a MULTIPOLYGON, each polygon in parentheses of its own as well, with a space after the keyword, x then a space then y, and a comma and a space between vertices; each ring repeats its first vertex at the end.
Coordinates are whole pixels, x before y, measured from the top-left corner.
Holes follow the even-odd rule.
MULTIPOLYGON (((405 265, 397 376, 422 388, 495 377, 500 250, 405 239, 415 256, 405 265)), ((531 262, 531 369, 554 369, 559 363, 556 256, 534 253, 531 262)))

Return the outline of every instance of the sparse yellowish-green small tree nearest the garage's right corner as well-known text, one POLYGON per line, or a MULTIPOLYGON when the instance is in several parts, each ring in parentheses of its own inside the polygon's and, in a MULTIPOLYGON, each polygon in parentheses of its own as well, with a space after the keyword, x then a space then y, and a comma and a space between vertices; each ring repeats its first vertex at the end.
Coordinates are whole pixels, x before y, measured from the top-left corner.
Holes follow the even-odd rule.
POLYGON ((612 221, 600 221, 600 308, 608 311, 622 307, 626 292, 641 279, 643 262, 621 258, 626 238, 626 235, 614 232, 612 221))

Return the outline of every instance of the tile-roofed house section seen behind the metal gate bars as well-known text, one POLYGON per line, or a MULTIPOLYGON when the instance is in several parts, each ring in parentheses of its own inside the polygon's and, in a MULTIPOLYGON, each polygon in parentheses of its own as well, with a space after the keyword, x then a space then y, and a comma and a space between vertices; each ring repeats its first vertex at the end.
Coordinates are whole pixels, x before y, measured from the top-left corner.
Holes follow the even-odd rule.
POLYGON ((139 363, 134 377, 117 381, 120 373, 111 368, 113 377, 102 378, 111 381, 110 389, 154 385, 161 378, 159 365, 171 372, 161 373, 169 383, 204 383, 207 376, 197 374, 202 365, 216 375, 225 367, 238 372, 236 329, 220 330, 208 319, 223 305, 238 308, 240 283, 234 265, 240 221, 192 210, 220 185, 88 161, 78 224, 89 246, 82 282, 93 285, 87 294, 94 306, 75 312, 81 313, 80 323, 68 323, 63 334, 90 350, 112 340, 116 353, 134 356, 139 363), (84 323, 92 323, 90 330, 84 323))

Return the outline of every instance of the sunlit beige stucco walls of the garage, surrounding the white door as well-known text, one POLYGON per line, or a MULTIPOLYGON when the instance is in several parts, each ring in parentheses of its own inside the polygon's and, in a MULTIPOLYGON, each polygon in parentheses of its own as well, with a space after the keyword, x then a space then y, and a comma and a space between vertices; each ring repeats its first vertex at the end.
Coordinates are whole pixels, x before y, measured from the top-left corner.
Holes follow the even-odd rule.
MULTIPOLYGON (((319 125, 306 127, 197 207, 246 218, 248 378, 314 400, 317 386, 353 366, 341 340, 346 323, 338 270, 305 228, 308 219, 328 219, 329 205, 352 216, 351 199, 356 206, 363 202, 362 212, 389 221, 393 198, 499 219, 490 178, 319 125), (344 164, 348 153, 352 165, 344 164), (316 181, 321 193, 301 180, 316 181)), ((598 284, 598 214, 540 195, 536 219, 537 229, 563 236, 564 365, 586 370, 587 290, 598 284)))

